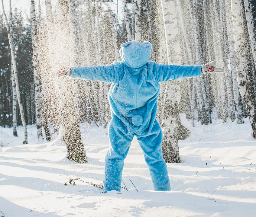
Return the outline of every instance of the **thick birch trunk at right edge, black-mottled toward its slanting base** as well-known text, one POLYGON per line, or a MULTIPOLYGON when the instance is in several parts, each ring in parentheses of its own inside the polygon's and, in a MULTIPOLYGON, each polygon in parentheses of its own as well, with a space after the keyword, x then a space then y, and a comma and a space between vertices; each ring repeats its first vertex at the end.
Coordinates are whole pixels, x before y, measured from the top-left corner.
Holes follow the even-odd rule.
POLYGON ((254 138, 256 132, 256 97, 252 84, 252 69, 248 67, 248 35, 244 25, 243 7, 240 0, 231 0, 232 23, 235 38, 236 71, 240 94, 246 104, 254 138))

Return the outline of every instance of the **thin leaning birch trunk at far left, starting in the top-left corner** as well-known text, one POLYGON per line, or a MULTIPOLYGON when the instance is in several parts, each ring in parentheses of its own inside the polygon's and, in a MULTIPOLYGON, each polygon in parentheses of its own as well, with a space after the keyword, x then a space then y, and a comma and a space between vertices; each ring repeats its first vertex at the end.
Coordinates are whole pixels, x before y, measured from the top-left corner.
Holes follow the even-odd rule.
POLYGON ((15 61, 15 57, 14 57, 12 32, 10 32, 10 26, 8 24, 7 16, 5 14, 5 8, 4 8, 3 0, 2 0, 2 8, 3 8, 4 18, 5 18, 5 27, 7 29, 8 40, 9 40, 9 45, 10 45, 10 49, 11 49, 11 59, 12 59, 12 64, 13 64, 14 77, 15 77, 16 94, 17 94, 17 99, 18 99, 18 104, 19 104, 20 114, 21 114, 21 122, 22 122, 23 129, 24 129, 23 144, 28 144, 28 132, 27 132, 27 125, 26 125, 25 118, 24 118, 23 105, 22 105, 22 102, 21 102, 20 87, 19 87, 19 81, 18 81, 18 73, 17 73, 16 61, 15 61))

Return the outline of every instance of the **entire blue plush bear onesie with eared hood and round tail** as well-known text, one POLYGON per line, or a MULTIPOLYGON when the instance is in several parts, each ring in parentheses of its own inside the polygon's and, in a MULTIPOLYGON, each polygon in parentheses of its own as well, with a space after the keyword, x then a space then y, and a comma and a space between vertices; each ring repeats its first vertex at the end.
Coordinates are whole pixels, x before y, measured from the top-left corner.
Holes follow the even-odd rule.
POLYGON ((110 65, 72 67, 71 78, 112 83, 109 104, 110 147, 105 157, 105 192, 120 191, 124 159, 137 137, 149 167, 154 190, 170 190, 162 153, 162 130, 156 120, 159 82, 201 76, 200 65, 163 65, 149 61, 149 42, 128 41, 119 51, 122 62, 110 65))

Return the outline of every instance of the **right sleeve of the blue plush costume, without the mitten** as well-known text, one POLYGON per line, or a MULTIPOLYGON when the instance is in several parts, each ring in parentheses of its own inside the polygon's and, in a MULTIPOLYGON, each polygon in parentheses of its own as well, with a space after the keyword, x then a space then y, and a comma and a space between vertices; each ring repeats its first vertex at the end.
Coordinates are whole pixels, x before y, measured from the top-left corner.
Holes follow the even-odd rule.
POLYGON ((164 65, 157 63, 153 65, 152 74, 157 82, 202 76, 201 65, 164 65))

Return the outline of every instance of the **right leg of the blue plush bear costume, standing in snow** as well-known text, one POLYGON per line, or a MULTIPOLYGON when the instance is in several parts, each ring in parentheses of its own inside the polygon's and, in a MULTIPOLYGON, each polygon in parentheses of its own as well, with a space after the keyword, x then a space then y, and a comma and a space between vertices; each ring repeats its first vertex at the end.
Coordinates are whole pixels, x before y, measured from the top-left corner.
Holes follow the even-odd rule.
POLYGON ((163 133, 157 120, 155 120, 151 132, 144 136, 137 136, 137 139, 144 152, 145 161, 149 167, 154 190, 171 190, 167 165, 164 161, 162 152, 163 133))

